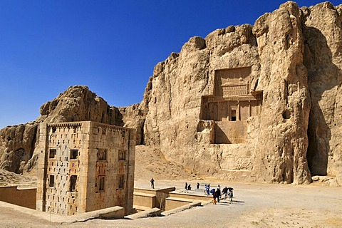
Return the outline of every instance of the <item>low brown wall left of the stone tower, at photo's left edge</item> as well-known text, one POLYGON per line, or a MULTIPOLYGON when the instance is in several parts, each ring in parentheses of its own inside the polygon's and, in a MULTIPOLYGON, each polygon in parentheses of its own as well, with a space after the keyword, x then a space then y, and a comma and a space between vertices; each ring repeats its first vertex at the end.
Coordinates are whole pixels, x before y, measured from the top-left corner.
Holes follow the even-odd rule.
POLYGON ((0 187, 0 201, 36 209, 36 192, 36 187, 18 189, 17 186, 4 186, 0 187))

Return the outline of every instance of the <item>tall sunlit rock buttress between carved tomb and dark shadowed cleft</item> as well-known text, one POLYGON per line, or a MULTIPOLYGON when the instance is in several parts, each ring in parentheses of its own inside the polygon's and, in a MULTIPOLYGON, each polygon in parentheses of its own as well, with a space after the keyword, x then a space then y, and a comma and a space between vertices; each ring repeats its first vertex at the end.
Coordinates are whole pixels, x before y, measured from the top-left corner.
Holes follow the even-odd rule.
POLYGON ((253 172, 266 181, 309 183, 306 162, 311 99, 303 64, 303 14, 294 2, 256 21, 264 91, 253 172))

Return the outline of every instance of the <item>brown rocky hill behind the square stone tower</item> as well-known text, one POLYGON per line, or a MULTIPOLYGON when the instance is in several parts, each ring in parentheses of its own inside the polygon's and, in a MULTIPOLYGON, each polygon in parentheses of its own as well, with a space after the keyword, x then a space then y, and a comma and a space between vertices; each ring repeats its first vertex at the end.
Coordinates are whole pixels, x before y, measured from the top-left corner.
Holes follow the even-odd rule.
POLYGON ((35 148, 39 123, 83 120, 123 125, 118 108, 110 107, 87 86, 71 86, 41 105, 41 116, 37 120, 0 130, 0 168, 16 173, 32 169, 38 154, 35 148))

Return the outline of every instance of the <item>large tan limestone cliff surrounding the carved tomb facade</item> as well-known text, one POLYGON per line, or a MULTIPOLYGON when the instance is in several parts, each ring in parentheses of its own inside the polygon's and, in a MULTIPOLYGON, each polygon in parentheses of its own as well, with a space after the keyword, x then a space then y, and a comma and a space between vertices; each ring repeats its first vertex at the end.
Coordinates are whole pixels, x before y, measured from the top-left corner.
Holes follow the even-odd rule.
POLYGON ((311 174, 331 175, 341 183, 341 42, 341 6, 299 9, 291 1, 254 26, 190 38, 179 54, 155 66, 144 95, 145 144, 202 175, 296 184, 311 182, 311 174), (239 123, 226 123, 227 143, 217 143, 215 134, 224 133, 219 123, 236 118, 233 101, 242 116, 247 96, 217 98, 215 81, 239 68, 250 69, 249 96, 262 93, 261 112, 253 115, 249 105, 237 139, 243 143, 230 143, 239 123), (206 114, 207 104, 219 107, 217 113, 206 114), (229 111, 234 114, 222 118, 229 111))

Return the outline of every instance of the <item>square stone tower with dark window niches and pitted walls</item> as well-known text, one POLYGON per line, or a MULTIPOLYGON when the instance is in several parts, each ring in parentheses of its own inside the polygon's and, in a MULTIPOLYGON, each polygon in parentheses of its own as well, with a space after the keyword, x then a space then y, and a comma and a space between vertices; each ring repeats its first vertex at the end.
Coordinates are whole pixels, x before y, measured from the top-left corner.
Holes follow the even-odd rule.
POLYGON ((42 123, 39 211, 73 215, 120 206, 133 209, 135 130, 92 121, 42 123))

